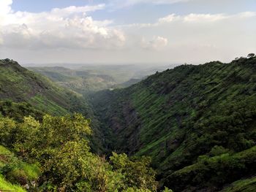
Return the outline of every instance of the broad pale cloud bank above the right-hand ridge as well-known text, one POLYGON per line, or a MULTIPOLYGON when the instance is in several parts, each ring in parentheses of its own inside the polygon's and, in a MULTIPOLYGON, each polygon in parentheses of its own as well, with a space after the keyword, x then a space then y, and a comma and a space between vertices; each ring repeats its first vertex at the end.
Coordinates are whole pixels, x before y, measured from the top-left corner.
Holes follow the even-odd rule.
POLYGON ((158 18, 154 23, 134 23, 121 28, 133 36, 137 34, 138 38, 140 34, 145 36, 139 40, 140 47, 151 50, 151 53, 139 53, 151 62, 230 61, 256 50, 255 13, 170 14, 158 18), (170 39, 171 43, 168 43, 170 39))

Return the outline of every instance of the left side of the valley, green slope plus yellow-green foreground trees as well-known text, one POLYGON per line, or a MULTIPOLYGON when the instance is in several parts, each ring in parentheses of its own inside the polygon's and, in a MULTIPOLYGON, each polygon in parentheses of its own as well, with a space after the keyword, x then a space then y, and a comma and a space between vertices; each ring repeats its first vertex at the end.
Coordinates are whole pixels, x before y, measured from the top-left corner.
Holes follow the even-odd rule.
POLYGON ((150 158, 98 155, 104 137, 78 93, 0 62, 0 191, 157 191, 150 158))

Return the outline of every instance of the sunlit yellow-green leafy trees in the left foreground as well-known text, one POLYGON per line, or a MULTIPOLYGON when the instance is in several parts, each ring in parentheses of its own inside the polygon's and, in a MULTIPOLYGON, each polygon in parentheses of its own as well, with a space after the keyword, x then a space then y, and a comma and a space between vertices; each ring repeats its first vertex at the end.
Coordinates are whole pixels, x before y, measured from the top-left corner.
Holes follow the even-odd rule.
POLYGON ((156 191, 149 158, 113 153, 108 160, 91 153, 89 122, 80 114, 45 115, 41 123, 31 116, 22 123, 1 118, 1 144, 30 162, 27 164, 0 147, 4 153, 10 153, 4 156, 7 162, 2 164, 1 174, 11 183, 40 191, 156 191), (34 181, 37 183, 32 185, 34 181))

